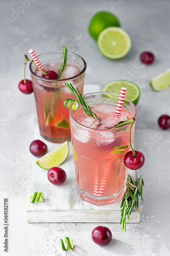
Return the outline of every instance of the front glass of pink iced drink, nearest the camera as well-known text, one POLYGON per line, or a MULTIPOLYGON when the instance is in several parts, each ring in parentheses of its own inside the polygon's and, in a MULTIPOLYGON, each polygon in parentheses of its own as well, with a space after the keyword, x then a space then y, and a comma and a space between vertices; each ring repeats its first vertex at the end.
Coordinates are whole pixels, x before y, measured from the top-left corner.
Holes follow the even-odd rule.
MULTIPOLYGON (((125 193, 128 175, 123 159, 130 150, 130 125, 113 127, 118 121, 135 117, 136 108, 126 99, 126 106, 118 119, 114 117, 118 95, 109 98, 110 95, 113 94, 96 93, 95 98, 94 94, 85 96, 101 122, 87 117, 81 108, 76 112, 70 110, 76 185, 80 197, 95 205, 119 201, 125 193)), ((133 135, 134 125, 132 140, 133 135)))

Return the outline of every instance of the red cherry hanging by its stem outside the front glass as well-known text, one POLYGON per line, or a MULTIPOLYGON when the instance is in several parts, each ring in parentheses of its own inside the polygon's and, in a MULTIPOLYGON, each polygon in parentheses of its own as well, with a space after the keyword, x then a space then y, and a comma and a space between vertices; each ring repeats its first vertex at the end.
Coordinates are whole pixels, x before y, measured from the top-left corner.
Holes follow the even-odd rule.
POLYGON ((136 156, 133 157, 132 151, 128 151, 124 156, 124 163, 131 170, 140 169, 144 164, 144 156, 141 152, 135 151, 136 156))

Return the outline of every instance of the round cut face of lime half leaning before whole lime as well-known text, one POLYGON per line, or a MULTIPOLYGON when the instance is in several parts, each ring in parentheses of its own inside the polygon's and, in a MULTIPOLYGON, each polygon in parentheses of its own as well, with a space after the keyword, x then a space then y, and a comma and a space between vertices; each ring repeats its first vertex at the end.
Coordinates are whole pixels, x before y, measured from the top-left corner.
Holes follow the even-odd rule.
POLYGON ((120 59, 130 51, 131 38, 125 30, 110 27, 100 33, 98 48, 105 57, 120 59))

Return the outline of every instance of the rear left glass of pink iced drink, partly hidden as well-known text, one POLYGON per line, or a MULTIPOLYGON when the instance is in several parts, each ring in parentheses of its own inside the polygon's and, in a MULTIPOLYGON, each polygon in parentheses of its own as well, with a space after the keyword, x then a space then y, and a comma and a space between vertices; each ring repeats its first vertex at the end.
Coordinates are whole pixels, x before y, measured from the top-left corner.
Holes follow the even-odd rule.
MULTIPOLYGON (((86 62, 76 54, 67 53, 67 57, 67 65, 60 80, 45 79, 42 77, 42 71, 33 64, 30 65, 40 134, 53 142, 70 139, 69 111, 63 102, 72 97, 72 94, 64 82, 71 82, 83 93, 86 62)), ((38 58, 45 71, 52 70, 58 73, 62 52, 45 53, 38 58)))

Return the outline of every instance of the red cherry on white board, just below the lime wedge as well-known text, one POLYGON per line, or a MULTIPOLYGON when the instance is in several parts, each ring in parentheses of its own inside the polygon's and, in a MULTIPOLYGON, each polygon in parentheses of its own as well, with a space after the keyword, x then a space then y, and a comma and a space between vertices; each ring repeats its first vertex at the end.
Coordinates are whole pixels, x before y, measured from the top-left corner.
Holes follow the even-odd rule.
POLYGON ((66 173, 60 167, 52 167, 48 170, 47 177, 54 185, 61 185, 66 180, 66 173))

